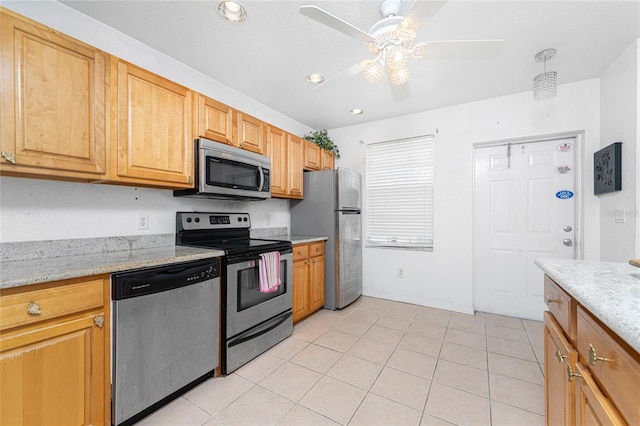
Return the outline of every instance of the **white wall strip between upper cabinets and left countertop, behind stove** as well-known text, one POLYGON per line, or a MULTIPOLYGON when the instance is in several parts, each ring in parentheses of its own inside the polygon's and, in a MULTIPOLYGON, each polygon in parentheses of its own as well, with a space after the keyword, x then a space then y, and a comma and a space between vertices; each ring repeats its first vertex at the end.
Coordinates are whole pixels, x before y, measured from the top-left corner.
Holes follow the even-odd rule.
POLYGON ((0 241, 42 241, 173 233, 177 211, 249 212, 253 228, 289 227, 289 201, 176 198, 164 189, 43 179, 0 180, 0 241), (149 229, 137 228, 139 214, 149 229), (269 220, 267 223, 267 214, 269 220))

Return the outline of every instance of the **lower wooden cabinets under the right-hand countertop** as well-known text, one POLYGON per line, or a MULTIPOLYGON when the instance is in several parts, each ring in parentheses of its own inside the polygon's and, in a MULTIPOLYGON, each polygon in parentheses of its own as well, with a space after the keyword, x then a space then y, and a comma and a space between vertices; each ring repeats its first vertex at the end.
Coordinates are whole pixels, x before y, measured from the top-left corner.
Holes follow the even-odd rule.
POLYGON ((545 276, 547 425, 640 424, 640 354, 545 276))

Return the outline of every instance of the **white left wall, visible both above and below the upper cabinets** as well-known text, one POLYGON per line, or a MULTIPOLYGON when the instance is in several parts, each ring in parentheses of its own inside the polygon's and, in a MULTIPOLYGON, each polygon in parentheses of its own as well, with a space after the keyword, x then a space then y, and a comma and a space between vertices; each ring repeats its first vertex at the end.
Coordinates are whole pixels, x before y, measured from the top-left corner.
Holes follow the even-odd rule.
MULTIPOLYGON (((303 135, 312 130, 62 3, 3 1, 2 6, 286 131, 303 135)), ((254 228, 290 223, 284 200, 193 200, 160 189, 41 179, 1 178, 0 205, 0 242, 171 233, 178 210, 249 212, 254 228), (149 215, 149 230, 137 229, 138 213, 149 215)))

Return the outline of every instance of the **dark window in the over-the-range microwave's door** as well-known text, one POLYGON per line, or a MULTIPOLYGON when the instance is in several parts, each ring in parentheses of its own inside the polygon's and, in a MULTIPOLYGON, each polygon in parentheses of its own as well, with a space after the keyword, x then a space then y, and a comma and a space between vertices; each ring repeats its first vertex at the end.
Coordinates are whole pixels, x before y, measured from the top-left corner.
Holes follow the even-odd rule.
POLYGON ((207 185, 257 191, 260 167, 225 158, 207 157, 207 185))

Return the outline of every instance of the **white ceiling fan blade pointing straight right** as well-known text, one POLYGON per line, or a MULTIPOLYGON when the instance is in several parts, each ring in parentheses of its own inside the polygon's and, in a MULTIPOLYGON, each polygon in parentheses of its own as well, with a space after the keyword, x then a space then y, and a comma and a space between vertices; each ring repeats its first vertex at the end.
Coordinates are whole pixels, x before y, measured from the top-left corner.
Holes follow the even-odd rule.
POLYGON ((416 44, 424 45, 419 55, 428 59, 491 59, 504 48, 504 40, 442 40, 416 44))

